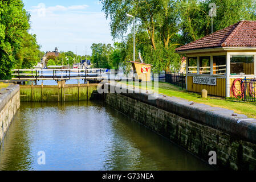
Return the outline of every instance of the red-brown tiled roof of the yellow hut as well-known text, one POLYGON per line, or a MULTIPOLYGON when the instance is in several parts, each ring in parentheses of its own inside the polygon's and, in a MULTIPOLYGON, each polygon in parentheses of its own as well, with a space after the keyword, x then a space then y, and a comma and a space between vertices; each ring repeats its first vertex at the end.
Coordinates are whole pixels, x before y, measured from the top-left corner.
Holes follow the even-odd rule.
POLYGON ((176 51, 233 46, 256 46, 256 21, 242 20, 204 38, 181 46, 176 51))

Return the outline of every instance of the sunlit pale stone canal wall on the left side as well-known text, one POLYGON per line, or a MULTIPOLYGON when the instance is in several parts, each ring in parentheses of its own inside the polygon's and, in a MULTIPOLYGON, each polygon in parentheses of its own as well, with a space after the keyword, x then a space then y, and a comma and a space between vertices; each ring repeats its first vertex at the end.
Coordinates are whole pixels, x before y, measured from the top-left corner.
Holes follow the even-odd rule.
POLYGON ((19 85, 10 85, 0 91, 0 145, 11 121, 19 109, 19 85))

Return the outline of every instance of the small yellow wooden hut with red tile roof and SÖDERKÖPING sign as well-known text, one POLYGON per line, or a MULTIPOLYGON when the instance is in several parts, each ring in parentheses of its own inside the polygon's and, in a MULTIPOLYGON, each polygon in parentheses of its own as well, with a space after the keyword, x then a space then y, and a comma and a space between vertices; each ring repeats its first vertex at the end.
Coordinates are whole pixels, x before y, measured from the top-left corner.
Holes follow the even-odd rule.
MULTIPOLYGON (((192 92, 233 97, 235 80, 256 78, 256 21, 242 20, 176 48, 186 55, 186 88, 192 92)), ((256 91, 256 89, 255 89, 256 91)), ((256 92, 255 92, 256 93, 256 92)))

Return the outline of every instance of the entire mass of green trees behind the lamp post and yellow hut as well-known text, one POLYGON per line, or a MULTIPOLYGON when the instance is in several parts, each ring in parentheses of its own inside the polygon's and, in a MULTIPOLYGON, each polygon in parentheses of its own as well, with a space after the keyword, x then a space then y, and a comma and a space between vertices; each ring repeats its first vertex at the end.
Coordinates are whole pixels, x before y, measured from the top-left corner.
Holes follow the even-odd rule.
MULTIPOLYGON (((133 35, 125 33, 136 25, 136 60, 138 53, 145 63, 153 64, 156 71, 178 71, 181 56, 175 53, 177 46, 211 34, 209 4, 216 3, 213 31, 221 30, 239 20, 255 20, 255 1, 250 0, 101 0, 106 18, 110 19, 111 34, 121 38, 123 55, 114 51, 113 65, 133 60, 133 35), (117 55, 115 55, 117 53, 117 55)), ((131 30, 133 32, 133 29, 131 30)))

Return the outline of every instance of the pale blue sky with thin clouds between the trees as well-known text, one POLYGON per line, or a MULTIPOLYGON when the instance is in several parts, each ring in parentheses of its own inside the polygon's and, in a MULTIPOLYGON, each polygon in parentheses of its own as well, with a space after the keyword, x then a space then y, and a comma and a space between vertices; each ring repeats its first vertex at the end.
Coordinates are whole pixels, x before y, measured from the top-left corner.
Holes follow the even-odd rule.
POLYGON ((91 55, 92 43, 113 44, 109 20, 98 0, 23 0, 41 51, 91 55))

